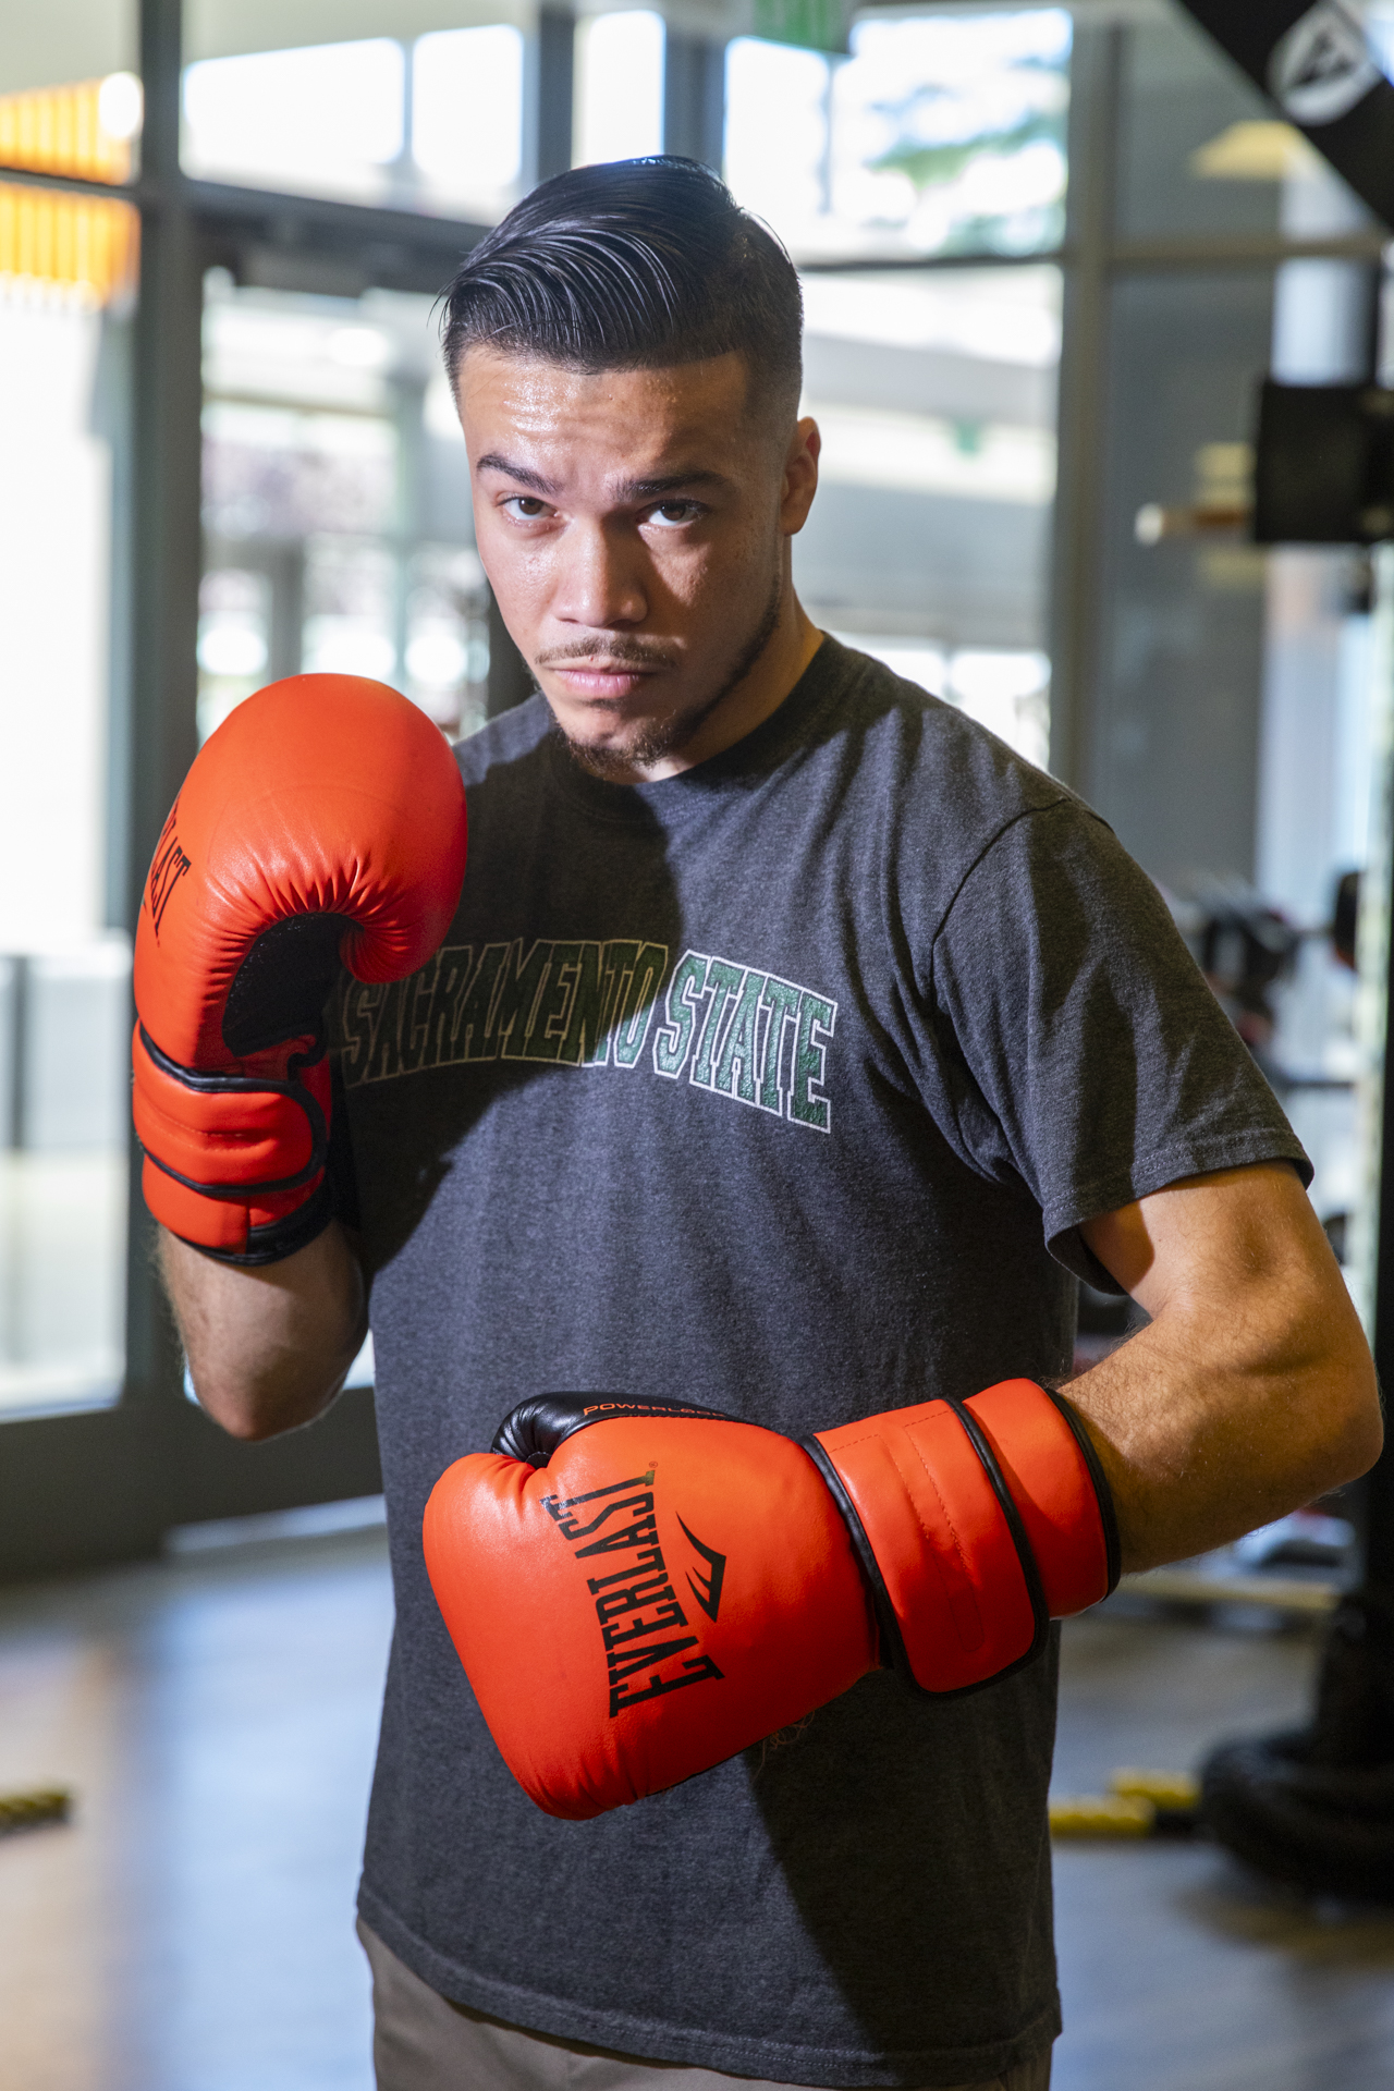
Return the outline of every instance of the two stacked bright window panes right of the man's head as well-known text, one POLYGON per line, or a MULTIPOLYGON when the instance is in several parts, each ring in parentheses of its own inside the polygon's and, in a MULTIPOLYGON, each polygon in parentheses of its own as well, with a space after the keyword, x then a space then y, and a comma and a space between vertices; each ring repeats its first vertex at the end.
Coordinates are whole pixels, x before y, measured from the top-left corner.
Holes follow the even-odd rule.
POLYGON ((1064 236, 1068 69, 1051 8, 867 17, 846 59, 727 52, 727 180, 805 270, 800 594, 1037 763, 1060 274, 1022 263, 1064 236))

